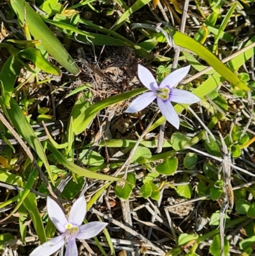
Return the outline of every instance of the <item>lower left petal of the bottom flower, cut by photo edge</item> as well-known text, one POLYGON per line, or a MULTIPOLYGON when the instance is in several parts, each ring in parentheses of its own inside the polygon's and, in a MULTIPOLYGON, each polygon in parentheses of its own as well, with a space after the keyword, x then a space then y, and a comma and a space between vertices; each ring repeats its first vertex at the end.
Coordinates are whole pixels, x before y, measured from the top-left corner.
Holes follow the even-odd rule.
POLYGON ((29 254, 29 256, 50 256, 57 252, 64 245, 64 234, 51 239, 50 241, 38 246, 29 254))

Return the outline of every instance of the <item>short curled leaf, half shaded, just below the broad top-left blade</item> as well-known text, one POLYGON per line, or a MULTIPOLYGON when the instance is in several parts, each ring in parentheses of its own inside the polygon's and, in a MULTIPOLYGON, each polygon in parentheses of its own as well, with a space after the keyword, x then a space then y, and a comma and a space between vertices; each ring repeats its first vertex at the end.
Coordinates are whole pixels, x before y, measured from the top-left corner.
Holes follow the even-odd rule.
POLYGON ((32 61, 38 68, 43 70, 44 72, 53 74, 53 75, 61 75, 61 72, 58 68, 56 68, 52 63, 47 61, 45 57, 41 54, 41 51, 36 48, 28 48, 24 50, 20 50, 17 53, 18 57, 23 57, 24 59, 29 59, 32 61))

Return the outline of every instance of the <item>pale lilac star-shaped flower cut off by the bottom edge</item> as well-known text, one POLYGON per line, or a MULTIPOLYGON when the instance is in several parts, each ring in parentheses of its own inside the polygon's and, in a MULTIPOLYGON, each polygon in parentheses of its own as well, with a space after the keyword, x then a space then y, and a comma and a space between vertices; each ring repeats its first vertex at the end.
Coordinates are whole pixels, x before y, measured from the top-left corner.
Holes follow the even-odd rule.
POLYGON ((86 215, 85 197, 80 197, 71 207, 68 218, 61 207, 50 197, 47 197, 47 211, 50 220, 62 234, 43 243, 34 249, 29 256, 50 256, 67 243, 65 256, 78 256, 76 239, 89 239, 97 236, 108 223, 90 222, 82 225, 86 215))

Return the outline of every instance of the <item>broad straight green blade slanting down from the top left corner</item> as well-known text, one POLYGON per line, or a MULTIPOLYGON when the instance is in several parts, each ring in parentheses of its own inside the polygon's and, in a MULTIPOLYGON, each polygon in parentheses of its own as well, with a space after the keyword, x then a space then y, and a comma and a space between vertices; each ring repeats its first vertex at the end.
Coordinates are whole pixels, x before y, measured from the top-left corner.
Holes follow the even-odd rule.
POLYGON ((52 33, 48 26, 41 20, 40 16, 33 8, 24 0, 10 0, 11 7, 15 11, 22 26, 27 24, 29 32, 34 39, 41 40, 41 45, 47 52, 54 57, 66 70, 73 75, 78 75, 80 72, 77 64, 68 54, 62 43, 52 33))

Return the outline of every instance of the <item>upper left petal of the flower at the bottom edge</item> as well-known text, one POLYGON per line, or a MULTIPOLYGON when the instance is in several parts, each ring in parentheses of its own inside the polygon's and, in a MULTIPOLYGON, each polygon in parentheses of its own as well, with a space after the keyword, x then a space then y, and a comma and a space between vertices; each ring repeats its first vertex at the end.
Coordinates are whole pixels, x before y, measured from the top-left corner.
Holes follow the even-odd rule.
POLYGON ((50 197, 47 197, 47 211, 50 220, 54 223, 55 227, 61 232, 66 231, 65 225, 68 223, 61 207, 50 197))

